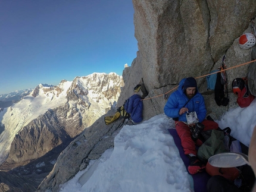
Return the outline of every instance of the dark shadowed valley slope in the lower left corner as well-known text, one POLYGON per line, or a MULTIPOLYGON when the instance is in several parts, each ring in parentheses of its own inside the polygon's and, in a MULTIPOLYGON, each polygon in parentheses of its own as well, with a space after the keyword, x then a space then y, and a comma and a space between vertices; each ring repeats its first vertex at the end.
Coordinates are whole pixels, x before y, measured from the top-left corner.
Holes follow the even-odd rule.
POLYGON ((60 153, 74 139, 66 140, 65 143, 55 147, 42 157, 32 160, 23 166, 18 165, 18 163, 4 162, 0 166, 1 182, 8 185, 10 189, 14 189, 11 191, 35 191, 43 179, 52 171, 52 168, 54 168, 60 153), (2 177, 8 178, 8 180, 2 180, 2 177), (30 185, 31 190, 27 190, 28 185, 30 185))

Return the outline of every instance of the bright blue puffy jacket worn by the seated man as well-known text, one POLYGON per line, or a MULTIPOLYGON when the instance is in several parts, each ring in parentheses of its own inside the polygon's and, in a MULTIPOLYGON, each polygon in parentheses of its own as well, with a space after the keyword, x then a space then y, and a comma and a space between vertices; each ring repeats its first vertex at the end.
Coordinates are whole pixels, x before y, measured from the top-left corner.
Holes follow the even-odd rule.
POLYGON ((199 122, 202 122, 206 117, 206 108, 204 103, 204 97, 198 92, 198 87, 196 87, 195 96, 189 100, 183 91, 183 84, 186 78, 183 78, 179 83, 179 88, 173 92, 167 100, 164 106, 164 113, 171 118, 179 118, 179 121, 187 121, 186 113, 179 115, 181 108, 186 107, 189 109, 188 112, 195 111, 199 122), (189 100, 189 102, 188 102, 189 100), (186 103, 188 102, 188 103, 186 103), (186 104, 186 105, 185 105, 186 104), (184 106, 185 105, 185 106, 184 106))

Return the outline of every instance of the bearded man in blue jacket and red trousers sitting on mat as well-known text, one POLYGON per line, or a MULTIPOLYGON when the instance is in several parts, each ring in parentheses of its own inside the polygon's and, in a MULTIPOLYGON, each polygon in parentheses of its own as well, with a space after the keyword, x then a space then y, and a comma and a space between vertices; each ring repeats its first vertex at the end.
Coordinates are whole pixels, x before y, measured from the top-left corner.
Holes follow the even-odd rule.
MULTIPOLYGON (((196 80, 193 77, 183 78, 180 81, 179 88, 173 92, 164 106, 164 113, 174 119, 177 134, 180 137, 185 155, 188 155, 190 165, 188 171, 190 174, 196 174, 205 168, 205 165, 196 157, 196 143, 199 139, 191 134, 196 127, 206 130, 216 130, 218 124, 214 121, 205 119, 206 108, 204 97, 198 92, 196 80), (188 122, 186 114, 196 112, 197 121, 188 122), (195 124, 196 123, 196 124, 195 124)), ((196 120, 196 117, 195 117, 196 120)))

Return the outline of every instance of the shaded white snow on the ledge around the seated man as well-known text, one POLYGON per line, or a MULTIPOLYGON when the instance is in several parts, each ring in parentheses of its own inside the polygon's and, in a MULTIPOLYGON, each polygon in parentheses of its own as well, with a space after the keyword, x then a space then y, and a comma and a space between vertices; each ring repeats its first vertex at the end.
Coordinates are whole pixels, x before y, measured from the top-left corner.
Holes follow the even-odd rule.
MULTIPOLYGON (((231 128, 231 135, 249 146, 256 125, 256 100, 247 108, 226 112, 220 128, 231 128)), ((115 137, 114 148, 91 161, 74 178, 61 185, 62 192, 155 192, 193 191, 191 175, 167 128, 174 121, 158 115, 137 125, 125 125, 115 137)))

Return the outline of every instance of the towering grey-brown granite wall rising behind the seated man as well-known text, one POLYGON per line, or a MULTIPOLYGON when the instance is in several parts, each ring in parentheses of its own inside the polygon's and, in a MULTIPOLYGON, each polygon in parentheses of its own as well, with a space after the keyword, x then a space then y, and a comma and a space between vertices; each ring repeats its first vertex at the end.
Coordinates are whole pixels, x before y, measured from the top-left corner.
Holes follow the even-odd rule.
MULTIPOLYGON (((223 55, 227 67, 251 60, 251 50, 239 48, 239 36, 250 32, 256 1, 146 1, 133 0, 135 37, 139 51, 131 67, 124 69, 123 88, 118 105, 122 105, 132 88, 143 78, 149 97, 145 100, 143 117, 149 119, 163 113, 166 100, 162 96, 179 84, 182 78, 200 77, 217 70, 223 55)), ((246 76, 248 66, 227 71, 229 92, 236 77, 246 76)), ((198 78, 199 91, 204 94, 211 116, 220 118, 235 105, 217 107, 213 92, 208 92, 206 78, 198 78)), ((167 97, 171 92, 167 93, 167 97)))

